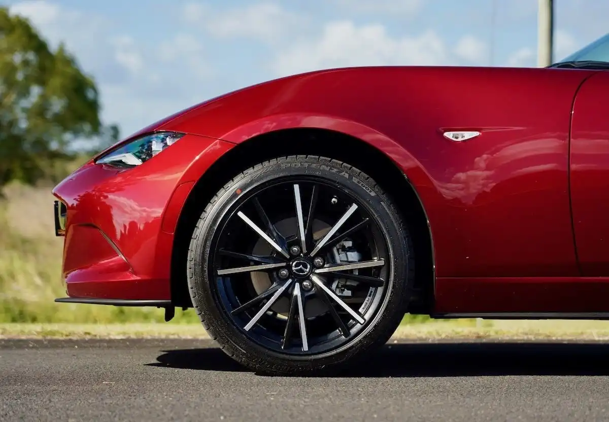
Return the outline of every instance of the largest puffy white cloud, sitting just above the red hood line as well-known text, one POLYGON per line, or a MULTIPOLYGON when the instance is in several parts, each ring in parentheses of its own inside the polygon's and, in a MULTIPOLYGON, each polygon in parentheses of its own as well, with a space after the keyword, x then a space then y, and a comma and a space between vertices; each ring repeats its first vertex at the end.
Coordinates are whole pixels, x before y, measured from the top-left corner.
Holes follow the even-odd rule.
POLYGON ((351 21, 326 24, 320 37, 302 40, 281 52, 276 74, 376 65, 440 65, 448 61, 442 40, 432 31, 417 37, 393 38, 384 26, 356 26, 351 21))

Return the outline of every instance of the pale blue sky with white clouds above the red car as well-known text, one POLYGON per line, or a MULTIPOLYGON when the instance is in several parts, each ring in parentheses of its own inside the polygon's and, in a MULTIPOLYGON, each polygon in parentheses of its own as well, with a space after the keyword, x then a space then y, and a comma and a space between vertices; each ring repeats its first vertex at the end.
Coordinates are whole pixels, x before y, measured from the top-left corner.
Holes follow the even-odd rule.
MULTIPOLYGON (((555 0, 555 58, 609 32, 609 0, 555 0)), ((123 136, 242 86, 358 65, 535 66, 537 0, 0 1, 97 82, 123 136), (494 16, 494 18, 493 18, 494 16)))

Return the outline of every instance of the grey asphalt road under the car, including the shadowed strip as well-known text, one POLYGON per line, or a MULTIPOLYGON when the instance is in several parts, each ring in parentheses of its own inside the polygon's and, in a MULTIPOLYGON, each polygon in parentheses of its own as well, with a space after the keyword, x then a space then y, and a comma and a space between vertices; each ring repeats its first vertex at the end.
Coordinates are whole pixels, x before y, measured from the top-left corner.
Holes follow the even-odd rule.
POLYGON ((0 420, 607 421, 609 344, 398 343, 273 378, 209 340, 0 340, 0 420))

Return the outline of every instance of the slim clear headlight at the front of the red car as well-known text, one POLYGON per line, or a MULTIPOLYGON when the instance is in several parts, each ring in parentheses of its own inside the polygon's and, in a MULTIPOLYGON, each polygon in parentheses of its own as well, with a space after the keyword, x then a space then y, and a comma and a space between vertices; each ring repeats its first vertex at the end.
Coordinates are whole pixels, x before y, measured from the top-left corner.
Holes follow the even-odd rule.
POLYGON ((151 133, 108 152, 98 158, 96 163, 112 164, 119 167, 139 166, 139 164, 145 163, 153 156, 172 146, 182 136, 184 136, 183 133, 175 132, 151 133))

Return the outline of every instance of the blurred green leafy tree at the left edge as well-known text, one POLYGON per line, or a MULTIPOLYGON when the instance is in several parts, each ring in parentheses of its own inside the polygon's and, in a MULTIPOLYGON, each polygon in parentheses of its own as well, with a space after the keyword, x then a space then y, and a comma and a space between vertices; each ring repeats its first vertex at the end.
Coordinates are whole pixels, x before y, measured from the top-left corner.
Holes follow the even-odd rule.
POLYGON ((93 78, 65 46, 53 51, 27 19, 0 7, 0 189, 49 177, 58 162, 73 161, 74 141, 118 139, 99 108, 93 78))

